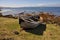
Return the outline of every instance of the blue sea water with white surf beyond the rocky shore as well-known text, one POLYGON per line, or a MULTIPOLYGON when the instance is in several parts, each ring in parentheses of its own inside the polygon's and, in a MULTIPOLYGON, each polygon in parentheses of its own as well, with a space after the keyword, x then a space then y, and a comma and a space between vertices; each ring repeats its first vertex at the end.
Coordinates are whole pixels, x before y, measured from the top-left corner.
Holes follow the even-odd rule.
POLYGON ((18 14, 21 12, 51 12, 54 15, 60 16, 60 7, 20 7, 20 8, 2 8, 2 14, 18 14))

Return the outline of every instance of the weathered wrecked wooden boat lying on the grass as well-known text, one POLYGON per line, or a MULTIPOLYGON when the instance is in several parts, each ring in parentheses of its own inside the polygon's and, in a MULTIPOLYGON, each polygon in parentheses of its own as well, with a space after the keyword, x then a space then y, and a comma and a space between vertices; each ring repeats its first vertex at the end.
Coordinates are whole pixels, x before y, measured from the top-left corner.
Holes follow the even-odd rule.
POLYGON ((35 28, 40 22, 38 22, 38 17, 35 16, 27 16, 25 14, 19 15, 19 24, 21 28, 35 28))

